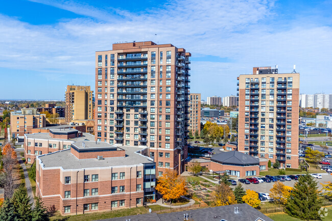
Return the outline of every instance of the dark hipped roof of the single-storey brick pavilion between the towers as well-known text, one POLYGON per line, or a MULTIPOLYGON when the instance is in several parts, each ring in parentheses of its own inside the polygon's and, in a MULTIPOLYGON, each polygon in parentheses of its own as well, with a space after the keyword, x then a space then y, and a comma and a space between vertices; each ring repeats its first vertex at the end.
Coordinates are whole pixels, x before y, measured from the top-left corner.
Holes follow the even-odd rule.
POLYGON ((211 157, 211 161, 217 161, 220 163, 232 163, 232 164, 259 164, 259 159, 252 157, 248 154, 241 153, 239 151, 223 152, 211 157))

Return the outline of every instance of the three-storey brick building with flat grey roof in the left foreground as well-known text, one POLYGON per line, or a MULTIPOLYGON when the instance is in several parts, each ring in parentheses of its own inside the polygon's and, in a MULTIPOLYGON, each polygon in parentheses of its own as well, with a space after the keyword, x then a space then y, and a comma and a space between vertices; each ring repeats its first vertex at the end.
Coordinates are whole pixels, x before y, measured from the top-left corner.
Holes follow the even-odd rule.
POLYGON ((62 215, 143 206, 155 198, 155 162, 148 150, 78 141, 37 156, 36 195, 62 215))

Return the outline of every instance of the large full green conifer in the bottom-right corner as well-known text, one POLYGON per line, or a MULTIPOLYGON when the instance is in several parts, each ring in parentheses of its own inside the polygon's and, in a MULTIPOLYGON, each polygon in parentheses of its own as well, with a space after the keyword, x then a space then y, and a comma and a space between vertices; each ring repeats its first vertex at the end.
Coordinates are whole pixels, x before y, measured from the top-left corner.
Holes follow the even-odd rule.
POLYGON ((300 176, 287 201, 285 211, 300 219, 320 219, 318 211, 321 208, 321 200, 318 193, 317 182, 312 176, 300 176))

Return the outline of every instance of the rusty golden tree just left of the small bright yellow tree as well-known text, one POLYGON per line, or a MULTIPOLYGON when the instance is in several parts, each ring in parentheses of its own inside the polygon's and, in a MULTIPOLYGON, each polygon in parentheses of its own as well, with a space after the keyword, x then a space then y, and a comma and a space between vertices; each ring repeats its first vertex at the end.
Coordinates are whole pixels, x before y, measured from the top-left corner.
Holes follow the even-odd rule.
POLYGON ((233 190, 225 183, 220 183, 214 192, 214 205, 226 206, 236 204, 233 190))

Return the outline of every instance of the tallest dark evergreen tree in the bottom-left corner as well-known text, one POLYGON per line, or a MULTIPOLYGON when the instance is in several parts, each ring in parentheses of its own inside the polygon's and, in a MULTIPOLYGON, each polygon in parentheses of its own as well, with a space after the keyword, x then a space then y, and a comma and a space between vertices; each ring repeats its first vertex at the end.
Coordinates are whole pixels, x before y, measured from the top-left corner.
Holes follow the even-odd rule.
POLYGON ((15 191, 12 203, 14 205, 14 213, 17 215, 17 220, 26 221, 31 220, 31 204, 27 189, 24 185, 20 185, 15 191))

